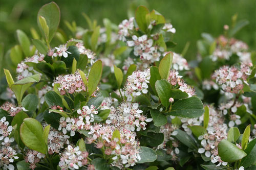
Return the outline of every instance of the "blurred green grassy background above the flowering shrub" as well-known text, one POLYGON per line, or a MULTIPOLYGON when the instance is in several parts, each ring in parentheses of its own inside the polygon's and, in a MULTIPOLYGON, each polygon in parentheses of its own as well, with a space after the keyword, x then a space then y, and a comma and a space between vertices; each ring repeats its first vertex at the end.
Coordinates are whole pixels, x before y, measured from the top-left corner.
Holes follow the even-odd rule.
MULTIPOLYGON (((17 29, 30 35, 30 28, 37 28, 36 15, 40 7, 51 1, 35 0, 0 0, 0 42, 4 42, 5 51, 16 43, 17 29)), ((75 20, 77 26, 87 27, 81 16, 86 13, 102 25, 103 18, 109 18, 113 23, 120 23, 126 19, 131 6, 143 4, 150 10, 157 10, 171 21, 177 32, 174 41, 178 45, 175 52, 181 53, 186 42, 190 42, 186 58, 195 59, 197 55, 196 41, 202 32, 213 36, 223 33, 223 26, 230 25, 231 17, 238 14, 238 20, 246 19, 250 23, 236 34, 236 38, 245 41, 251 50, 255 50, 255 1, 254 0, 57 0, 60 7, 60 28, 66 29, 63 20, 75 20)), ((30 35, 31 36, 31 35, 30 35)))

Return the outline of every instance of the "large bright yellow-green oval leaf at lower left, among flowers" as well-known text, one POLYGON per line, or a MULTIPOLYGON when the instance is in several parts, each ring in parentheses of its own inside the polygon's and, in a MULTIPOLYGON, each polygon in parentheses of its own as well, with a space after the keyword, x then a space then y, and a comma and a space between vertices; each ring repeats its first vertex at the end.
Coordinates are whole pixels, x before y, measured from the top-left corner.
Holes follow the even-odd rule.
POLYGON ((44 139, 44 131, 41 124, 34 118, 25 118, 20 126, 20 137, 23 143, 32 150, 42 154, 47 153, 47 146, 44 139))

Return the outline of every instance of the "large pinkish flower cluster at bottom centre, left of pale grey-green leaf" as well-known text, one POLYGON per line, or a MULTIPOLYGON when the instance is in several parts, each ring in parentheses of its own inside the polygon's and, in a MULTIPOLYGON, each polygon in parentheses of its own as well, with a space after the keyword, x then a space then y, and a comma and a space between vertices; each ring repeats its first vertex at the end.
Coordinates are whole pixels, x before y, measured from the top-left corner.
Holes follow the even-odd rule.
MULTIPOLYGON (((120 139, 114 136, 115 127, 111 125, 94 124, 87 138, 88 143, 95 143, 96 148, 104 146, 105 155, 113 155, 113 165, 120 165, 120 160, 125 167, 134 166, 140 160, 139 142, 135 140, 136 133, 120 129, 120 139)), ((123 167, 120 167, 123 168, 123 167)))

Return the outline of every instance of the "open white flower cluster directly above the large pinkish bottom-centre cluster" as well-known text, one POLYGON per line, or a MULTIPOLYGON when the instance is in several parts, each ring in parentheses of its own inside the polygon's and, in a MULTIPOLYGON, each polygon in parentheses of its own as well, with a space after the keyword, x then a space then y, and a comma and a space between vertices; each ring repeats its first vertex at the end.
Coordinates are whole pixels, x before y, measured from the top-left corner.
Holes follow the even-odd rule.
POLYGON ((124 128, 135 131, 135 127, 137 127, 137 131, 145 130, 146 122, 151 122, 152 118, 147 118, 142 112, 142 110, 139 110, 138 103, 121 103, 117 109, 111 110, 106 123, 113 124, 118 129, 124 128))

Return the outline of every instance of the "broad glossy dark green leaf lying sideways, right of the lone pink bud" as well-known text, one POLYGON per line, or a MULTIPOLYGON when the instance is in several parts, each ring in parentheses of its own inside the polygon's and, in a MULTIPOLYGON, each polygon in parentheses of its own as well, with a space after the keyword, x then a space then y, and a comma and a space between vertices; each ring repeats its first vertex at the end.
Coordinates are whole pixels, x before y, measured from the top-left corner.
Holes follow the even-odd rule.
POLYGON ((172 110, 168 115, 180 116, 185 118, 196 118, 204 113, 204 106, 200 99, 193 96, 187 99, 181 99, 174 103, 172 110))

